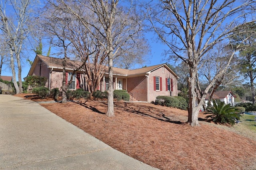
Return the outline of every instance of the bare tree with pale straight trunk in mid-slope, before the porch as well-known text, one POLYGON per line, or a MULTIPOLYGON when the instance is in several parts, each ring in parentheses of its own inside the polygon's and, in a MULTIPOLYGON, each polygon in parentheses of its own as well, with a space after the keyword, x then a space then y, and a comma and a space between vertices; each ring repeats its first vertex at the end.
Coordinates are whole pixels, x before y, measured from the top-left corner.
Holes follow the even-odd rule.
MULTIPOLYGON (((50 0, 49 0, 50 1, 50 0)), ((108 75, 109 90, 108 90, 108 116, 114 116, 114 100, 113 100, 113 59, 118 56, 117 53, 126 44, 129 39, 132 39, 141 30, 141 21, 138 20, 139 15, 133 15, 133 20, 129 16, 131 12, 136 12, 136 8, 119 7, 119 0, 88 0, 77 1, 77 7, 83 5, 86 12, 90 12, 92 18, 96 20, 87 20, 80 13, 78 8, 73 8, 70 4, 76 2, 68 2, 66 0, 57 0, 65 6, 62 10, 76 16, 84 26, 90 31, 91 27, 94 31, 90 33, 98 40, 98 43, 104 48, 108 57, 108 75), (100 37, 98 37, 100 35, 100 37)), ((52 2, 53 3, 53 2, 52 2)), ((54 4, 54 3, 53 3, 54 4)), ((133 6, 134 4, 131 4, 133 6)), ((126 6, 129 6, 127 4, 126 6)))

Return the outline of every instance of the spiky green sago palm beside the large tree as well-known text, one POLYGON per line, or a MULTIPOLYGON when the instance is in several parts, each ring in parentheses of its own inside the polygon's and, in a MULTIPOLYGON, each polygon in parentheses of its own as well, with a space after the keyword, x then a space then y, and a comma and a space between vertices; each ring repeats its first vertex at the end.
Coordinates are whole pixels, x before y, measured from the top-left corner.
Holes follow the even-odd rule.
POLYGON ((231 107, 230 104, 225 104, 220 100, 213 100, 212 103, 207 107, 207 112, 204 113, 210 114, 206 118, 212 118, 215 123, 230 125, 235 124, 235 119, 240 120, 240 115, 235 113, 234 107, 231 107))

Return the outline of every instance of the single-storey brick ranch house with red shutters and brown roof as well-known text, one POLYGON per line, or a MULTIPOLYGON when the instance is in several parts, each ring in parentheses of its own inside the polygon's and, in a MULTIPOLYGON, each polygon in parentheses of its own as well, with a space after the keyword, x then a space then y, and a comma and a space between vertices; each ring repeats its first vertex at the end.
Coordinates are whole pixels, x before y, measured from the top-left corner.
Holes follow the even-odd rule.
MULTIPOLYGON (((68 80, 74 68, 78 68, 78 61, 68 60, 66 64, 66 74, 68 80)), ((60 88, 62 86, 62 59, 36 55, 34 62, 28 72, 28 76, 44 76, 47 78, 46 87, 60 88)), ((70 90, 86 87, 84 80, 86 72, 79 70, 70 90), (78 78, 79 77, 79 78, 78 78)), ((178 96, 179 76, 166 64, 158 64, 134 70, 123 68, 113 68, 114 90, 126 90, 133 97, 133 101, 152 102, 156 96, 178 96)), ((67 80, 66 80, 67 82, 67 80)), ((98 90, 104 92, 108 90, 108 70, 98 86, 98 90)))

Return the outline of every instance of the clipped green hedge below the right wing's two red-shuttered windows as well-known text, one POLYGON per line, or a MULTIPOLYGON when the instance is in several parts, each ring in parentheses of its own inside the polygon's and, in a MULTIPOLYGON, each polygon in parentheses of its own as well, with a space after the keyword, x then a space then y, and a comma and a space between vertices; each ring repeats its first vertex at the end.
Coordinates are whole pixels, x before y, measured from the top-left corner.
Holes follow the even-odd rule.
POLYGON ((188 102, 181 96, 157 96, 155 104, 187 110, 188 102))

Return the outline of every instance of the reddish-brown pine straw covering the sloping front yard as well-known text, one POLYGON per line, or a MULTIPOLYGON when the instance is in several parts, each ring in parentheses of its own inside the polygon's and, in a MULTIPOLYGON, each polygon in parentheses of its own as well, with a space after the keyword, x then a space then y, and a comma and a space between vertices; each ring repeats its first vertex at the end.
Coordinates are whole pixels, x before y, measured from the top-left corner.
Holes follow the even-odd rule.
POLYGON ((114 117, 105 114, 107 102, 40 104, 114 149, 162 170, 256 169, 256 139, 205 122, 202 113, 201 126, 190 127, 187 111, 154 104, 115 102, 114 117))

